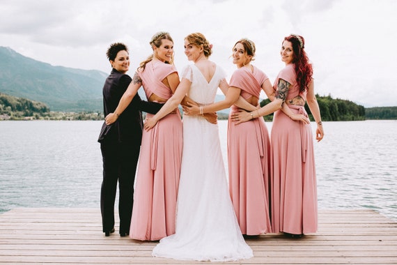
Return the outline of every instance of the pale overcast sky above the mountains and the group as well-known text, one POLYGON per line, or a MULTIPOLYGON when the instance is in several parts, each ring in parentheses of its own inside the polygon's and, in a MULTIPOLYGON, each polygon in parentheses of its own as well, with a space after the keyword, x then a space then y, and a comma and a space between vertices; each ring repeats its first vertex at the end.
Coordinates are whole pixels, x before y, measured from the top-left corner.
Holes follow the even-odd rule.
POLYGON ((130 75, 169 31, 176 67, 189 63, 183 38, 199 31, 228 78, 234 43, 256 44, 254 64, 273 83, 284 36, 297 33, 314 68, 315 91, 365 107, 397 106, 396 0, 0 0, 0 46, 53 66, 109 73, 107 47, 124 42, 130 75))

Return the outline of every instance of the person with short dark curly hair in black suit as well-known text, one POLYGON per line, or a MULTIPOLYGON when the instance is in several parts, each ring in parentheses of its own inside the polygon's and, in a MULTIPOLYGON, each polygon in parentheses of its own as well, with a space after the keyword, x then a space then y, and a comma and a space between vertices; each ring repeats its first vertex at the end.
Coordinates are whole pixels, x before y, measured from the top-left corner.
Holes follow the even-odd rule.
MULTIPOLYGON (((107 50, 111 73, 103 86, 104 116, 115 109, 132 79, 126 75, 130 67, 127 46, 113 43, 107 50)), ((130 234, 134 179, 141 147, 143 121, 141 111, 155 114, 163 104, 141 100, 138 93, 123 114, 116 115, 115 123, 102 125, 98 142, 102 152, 103 181, 100 195, 102 229, 105 236, 114 232, 114 204, 117 182, 119 189, 118 213, 120 236, 130 234)))

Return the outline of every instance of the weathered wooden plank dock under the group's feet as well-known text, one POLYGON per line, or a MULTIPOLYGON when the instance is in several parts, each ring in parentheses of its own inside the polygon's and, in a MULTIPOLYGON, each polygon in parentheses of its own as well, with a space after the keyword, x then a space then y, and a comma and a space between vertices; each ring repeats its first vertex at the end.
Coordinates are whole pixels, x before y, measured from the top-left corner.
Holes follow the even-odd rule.
MULTIPOLYGON (((13 209, 0 214, 0 265, 210 263, 152 257, 156 242, 121 238, 117 229, 104 236, 99 209, 13 209)), ((247 243, 254 257, 222 264, 397 264, 397 222, 370 210, 322 210, 317 234, 247 243)))

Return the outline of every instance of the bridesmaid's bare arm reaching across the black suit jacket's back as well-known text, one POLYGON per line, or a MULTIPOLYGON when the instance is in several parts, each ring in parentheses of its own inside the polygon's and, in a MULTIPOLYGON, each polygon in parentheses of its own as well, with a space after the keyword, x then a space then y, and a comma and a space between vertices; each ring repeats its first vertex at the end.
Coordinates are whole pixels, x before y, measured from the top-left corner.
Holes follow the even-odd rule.
POLYGON ((134 77, 132 78, 132 82, 128 85, 127 90, 124 92, 123 96, 118 103, 118 106, 114 113, 109 113, 105 122, 107 125, 114 123, 118 116, 123 113, 123 111, 130 105, 132 98, 137 94, 139 87, 142 85, 141 77, 139 77, 138 73, 135 72, 134 77))

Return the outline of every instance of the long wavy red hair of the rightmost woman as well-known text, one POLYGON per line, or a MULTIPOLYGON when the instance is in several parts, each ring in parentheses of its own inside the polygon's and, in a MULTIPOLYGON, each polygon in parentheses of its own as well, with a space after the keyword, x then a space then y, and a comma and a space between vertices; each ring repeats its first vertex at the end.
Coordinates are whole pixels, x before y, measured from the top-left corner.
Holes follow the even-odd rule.
POLYGON ((299 91, 303 92, 309 86, 313 77, 313 68, 309 63, 309 57, 304 51, 304 38, 299 35, 291 34, 284 38, 293 45, 293 61, 295 64, 295 73, 297 74, 297 84, 299 91))

